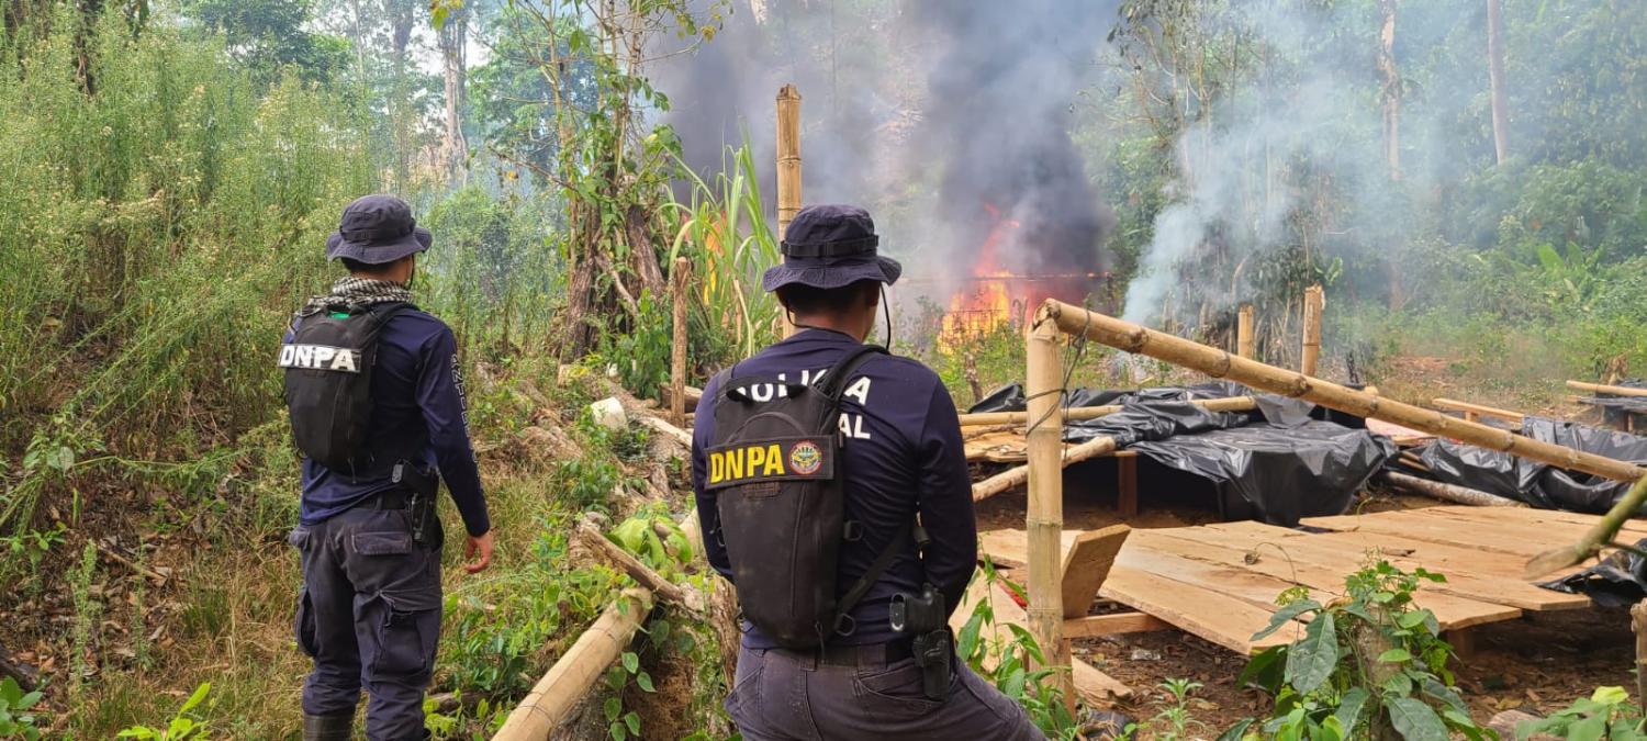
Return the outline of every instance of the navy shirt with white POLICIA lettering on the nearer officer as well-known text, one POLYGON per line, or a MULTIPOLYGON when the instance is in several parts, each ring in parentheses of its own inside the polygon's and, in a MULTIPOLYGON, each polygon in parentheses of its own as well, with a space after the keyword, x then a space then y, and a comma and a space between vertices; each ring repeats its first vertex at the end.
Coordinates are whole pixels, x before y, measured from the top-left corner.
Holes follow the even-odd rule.
MULTIPOLYGON (((736 367, 736 375, 814 379, 833 366, 855 339, 828 329, 805 329, 736 367)), ((692 486, 710 565, 731 580, 731 565, 720 532, 715 494, 703 491, 705 450, 715 435, 715 398, 710 380, 698 405, 692 433, 692 486)), ((863 525, 863 538, 843 543, 837 568, 837 594, 847 593, 868 571, 888 542, 906 545, 875 588, 851 611, 856 631, 832 644, 879 644, 901 637, 886 621, 893 594, 917 594, 924 581, 944 591, 950 611, 972 578, 978 558, 978 525, 972 512, 972 479, 960 440, 960 420, 949 390, 929 367, 907 357, 871 356, 847 384, 843 463, 847 519, 863 525), (922 563, 907 529, 916 514, 932 538, 922 563)), ((906 637, 906 636, 903 636, 906 637)), ((751 627, 744 645, 769 649, 772 641, 751 627)))

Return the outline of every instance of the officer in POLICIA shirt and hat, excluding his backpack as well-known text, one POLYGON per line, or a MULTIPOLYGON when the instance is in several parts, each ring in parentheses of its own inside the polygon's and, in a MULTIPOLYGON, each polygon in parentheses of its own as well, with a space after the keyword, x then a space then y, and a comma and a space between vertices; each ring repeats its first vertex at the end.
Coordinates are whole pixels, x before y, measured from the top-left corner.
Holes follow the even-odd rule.
MULTIPOLYGON (((736 364, 733 379, 807 384, 861 346, 875 328, 881 287, 903 270, 879 257, 876 244, 875 224, 860 207, 814 206, 796 214, 784 263, 768 270, 763 285, 777 293, 799 333, 736 364)), ((712 379, 703 390, 692 474, 708 560, 733 580, 726 542, 736 534, 721 527, 707 454, 716 440, 721 384, 736 387, 723 379, 712 379)), ((917 665, 919 644, 894 619, 894 603, 919 599, 926 588, 929 601, 944 604, 935 621, 947 621, 975 568, 972 482, 949 390, 926 366, 888 354, 863 361, 843 389, 845 509, 860 532, 840 545, 835 593, 847 593, 878 568, 879 553, 894 557, 840 621, 850 631, 822 647, 779 647, 746 622, 726 711, 751 741, 1044 738, 1023 708, 970 672, 947 641, 940 660, 917 665), (916 519, 924 538, 911 537, 916 519), (934 669, 942 678, 937 688, 926 677, 934 669)))

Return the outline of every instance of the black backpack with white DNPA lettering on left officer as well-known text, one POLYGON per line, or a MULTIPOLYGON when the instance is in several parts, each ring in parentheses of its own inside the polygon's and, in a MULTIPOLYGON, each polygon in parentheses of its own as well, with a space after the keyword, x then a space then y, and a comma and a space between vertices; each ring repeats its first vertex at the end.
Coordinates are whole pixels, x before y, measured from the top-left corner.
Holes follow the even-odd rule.
POLYGON ((372 366, 377 334, 405 301, 328 305, 298 313, 292 341, 280 346, 287 370, 292 440, 305 456, 338 473, 371 469, 372 366))

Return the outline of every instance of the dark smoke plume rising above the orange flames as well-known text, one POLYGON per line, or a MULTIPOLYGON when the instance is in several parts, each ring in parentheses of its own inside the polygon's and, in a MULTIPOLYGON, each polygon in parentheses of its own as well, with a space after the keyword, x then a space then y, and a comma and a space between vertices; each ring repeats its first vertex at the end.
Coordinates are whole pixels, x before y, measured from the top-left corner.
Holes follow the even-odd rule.
POLYGON ((1113 2, 1082 0, 736 0, 712 43, 651 74, 687 163, 718 171, 748 132, 768 201, 772 100, 794 82, 805 203, 868 206, 909 275, 942 291, 972 272, 990 209, 1018 222, 998 268, 1108 265, 1113 219, 1069 128, 1113 20, 1113 2))

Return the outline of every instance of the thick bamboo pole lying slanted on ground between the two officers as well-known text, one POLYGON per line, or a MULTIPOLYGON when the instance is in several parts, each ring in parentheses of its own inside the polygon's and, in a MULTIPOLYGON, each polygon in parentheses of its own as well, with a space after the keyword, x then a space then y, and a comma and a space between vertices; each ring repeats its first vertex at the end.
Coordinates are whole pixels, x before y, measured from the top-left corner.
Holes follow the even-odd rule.
POLYGON ((516 705, 492 741, 544 741, 583 700, 606 667, 629 645, 641 621, 652 611, 652 593, 624 590, 604 613, 583 631, 560 660, 537 680, 516 705))

